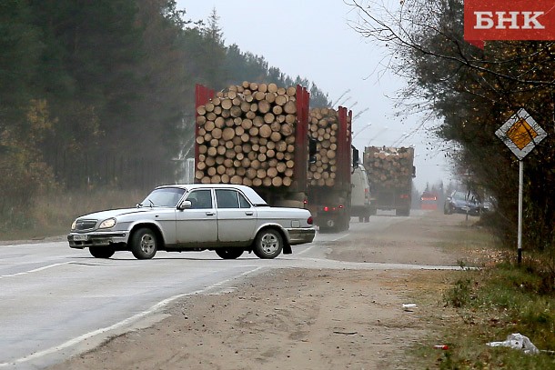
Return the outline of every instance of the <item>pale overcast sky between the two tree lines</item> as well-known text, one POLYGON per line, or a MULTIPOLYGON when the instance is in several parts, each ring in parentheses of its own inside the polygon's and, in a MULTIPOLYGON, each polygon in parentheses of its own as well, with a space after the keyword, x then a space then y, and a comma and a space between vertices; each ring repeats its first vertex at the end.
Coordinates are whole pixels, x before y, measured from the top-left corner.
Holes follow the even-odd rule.
MULTIPOLYGON (((384 3, 396 6, 399 0, 384 3)), ((268 65, 307 78, 332 102, 352 109, 358 115, 353 144, 361 153, 368 145, 412 145, 417 188, 449 182, 450 167, 438 150, 426 145, 430 139, 421 117, 401 121, 395 116, 397 91, 404 81, 384 67, 383 46, 369 43, 349 27, 357 14, 343 0, 177 0, 177 5, 192 20, 206 21, 216 8, 226 45, 264 56, 268 65)))

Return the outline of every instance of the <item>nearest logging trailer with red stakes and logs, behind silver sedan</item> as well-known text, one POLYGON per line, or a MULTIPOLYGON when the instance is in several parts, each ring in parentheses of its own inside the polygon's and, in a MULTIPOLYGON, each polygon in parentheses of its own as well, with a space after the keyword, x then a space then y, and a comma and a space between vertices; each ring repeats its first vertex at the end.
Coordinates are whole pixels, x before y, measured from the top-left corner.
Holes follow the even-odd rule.
POLYGON ((195 182, 247 185, 268 205, 306 208, 308 90, 196 85, 195 182))

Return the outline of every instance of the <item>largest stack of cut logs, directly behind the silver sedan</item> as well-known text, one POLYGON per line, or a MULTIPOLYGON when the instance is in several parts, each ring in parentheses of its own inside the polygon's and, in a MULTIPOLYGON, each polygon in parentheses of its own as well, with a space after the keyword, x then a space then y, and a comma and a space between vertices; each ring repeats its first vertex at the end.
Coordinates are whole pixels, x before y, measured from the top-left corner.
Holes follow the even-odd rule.
POLYGON ((289 186, 295 167, 297 89, 243 82, 197 107, 197 181, 289 186))

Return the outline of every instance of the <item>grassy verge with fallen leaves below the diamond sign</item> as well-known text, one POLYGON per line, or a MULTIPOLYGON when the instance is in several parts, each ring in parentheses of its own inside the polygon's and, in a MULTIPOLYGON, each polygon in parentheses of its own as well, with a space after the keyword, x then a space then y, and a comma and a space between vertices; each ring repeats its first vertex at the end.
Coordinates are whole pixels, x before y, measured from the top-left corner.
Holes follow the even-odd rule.
POLYGON ((524 355, 486 345, 520 333, 540 350, 555 350, 555 290, 546 283, 553 276, 546 279, 538 257, 526 255, 517 265, 516 251, 503 248, 486 229, 474 225, 453 225, 444 231, 438 237, 446 250, 465 250, 469 260, 461 265, 472 261, 480 268, 415 273, 407 279, 409 298, 419 303, 415 314, 431 333, 413 346, 409 368, 555 368, 550 352, 524 355))

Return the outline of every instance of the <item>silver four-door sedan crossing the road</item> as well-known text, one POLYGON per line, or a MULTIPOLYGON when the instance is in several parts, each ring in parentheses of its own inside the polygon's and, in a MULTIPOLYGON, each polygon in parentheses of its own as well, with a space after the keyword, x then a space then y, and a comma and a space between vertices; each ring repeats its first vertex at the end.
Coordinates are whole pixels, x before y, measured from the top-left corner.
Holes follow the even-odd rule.
POLYGON ((67 241, 96 258, 213 250, 235 259, 246 251, 259 258, 290 254, 291 245, 311 243, 315 235, 307 209, 271 207, 245 185, 189 184, 158 186, 135 208, 82 215, 67 241))

